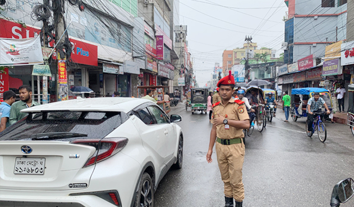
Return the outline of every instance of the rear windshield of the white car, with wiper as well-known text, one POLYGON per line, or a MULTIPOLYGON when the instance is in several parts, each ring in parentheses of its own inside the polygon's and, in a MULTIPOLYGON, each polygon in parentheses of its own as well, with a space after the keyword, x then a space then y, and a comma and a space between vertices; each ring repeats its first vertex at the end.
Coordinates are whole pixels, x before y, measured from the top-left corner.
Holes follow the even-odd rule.
POLYGON ((104 138, 127 119, 128 116, 122 112, 50 111, 29 113, 26 118, 1 132, 0 141, 33 140, 33 137, 40 137, 38 140, 41 137, 48 140, 54 136, 58 141, 71 141, 77 138, 104 138), (44 136, 43 134, 50 135, 44 136), (75 134, 80 136, 75 137, 75 134))

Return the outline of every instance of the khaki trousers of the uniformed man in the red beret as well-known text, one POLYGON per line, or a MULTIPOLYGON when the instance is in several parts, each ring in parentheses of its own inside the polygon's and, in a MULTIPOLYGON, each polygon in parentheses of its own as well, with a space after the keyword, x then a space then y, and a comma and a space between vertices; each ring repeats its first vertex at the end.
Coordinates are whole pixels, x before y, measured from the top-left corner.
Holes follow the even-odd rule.
MULTIPOLYGON (((242 140, 242 138, 241 138, 242 140)), ((245 158, 245 144, 222 145, 216 142, 216 156, 224 181, 226 197, 241 202, 245 198, 245 189, 242 183, 242 166, 245 158)))

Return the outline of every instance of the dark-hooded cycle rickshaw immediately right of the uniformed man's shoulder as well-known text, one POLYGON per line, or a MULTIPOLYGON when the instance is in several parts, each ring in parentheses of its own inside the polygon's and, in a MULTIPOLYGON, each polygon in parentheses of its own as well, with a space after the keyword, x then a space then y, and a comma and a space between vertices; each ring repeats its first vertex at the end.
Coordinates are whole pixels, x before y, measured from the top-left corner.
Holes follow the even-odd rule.
POLYGON ((263 128, 266 127, 267 125, 267 119, 266 119, 266 116, 264 115, 265 114, 265 111, 264 111, 264 98, 263 98, 263 89, 257 87, 257 86, 250 86, 247 88, 246 90, 246 94, 245 94, 246 98, 249 99, 249 102, 250 102, 250 105, 252 106, 252 108, 256 111, 256 117, 254 118, 257 122, 256 122, 256 125, 257 125, 257 129, 259 132, 262 132, 263 131, 263 128), (254 89, 254 90, 258 90, 258 94, 260 94, 259 98, 261 99, 261 102, 262 103, 252 103, 251 102, 251 90, 254 89))

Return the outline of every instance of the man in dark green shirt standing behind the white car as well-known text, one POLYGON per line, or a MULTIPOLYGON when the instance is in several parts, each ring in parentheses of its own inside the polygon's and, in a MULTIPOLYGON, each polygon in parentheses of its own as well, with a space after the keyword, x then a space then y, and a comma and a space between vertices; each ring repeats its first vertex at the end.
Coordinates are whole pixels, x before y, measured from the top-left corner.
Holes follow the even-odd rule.
POLYGON ((28 115, 28 113, 21 113, 20 111, 22 109, 41 105, 32 100, 31 87, 27 85, 20 86, 19 94, 20 94, 21 101, 17 101, 11 105, 10 118, 9 118, 9 122, 11 125, 15 124, 17 121, 21 120, 22 118, 28 115))

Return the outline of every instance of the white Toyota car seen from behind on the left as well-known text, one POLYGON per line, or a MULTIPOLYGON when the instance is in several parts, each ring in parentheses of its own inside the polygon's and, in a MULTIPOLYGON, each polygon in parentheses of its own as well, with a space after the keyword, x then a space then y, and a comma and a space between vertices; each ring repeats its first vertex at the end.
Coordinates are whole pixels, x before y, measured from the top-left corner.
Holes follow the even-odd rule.
POLYGON ((0 207, 153 207, 183 133, 152 101, 78 98, 22 110, 0 133, 0 207))

